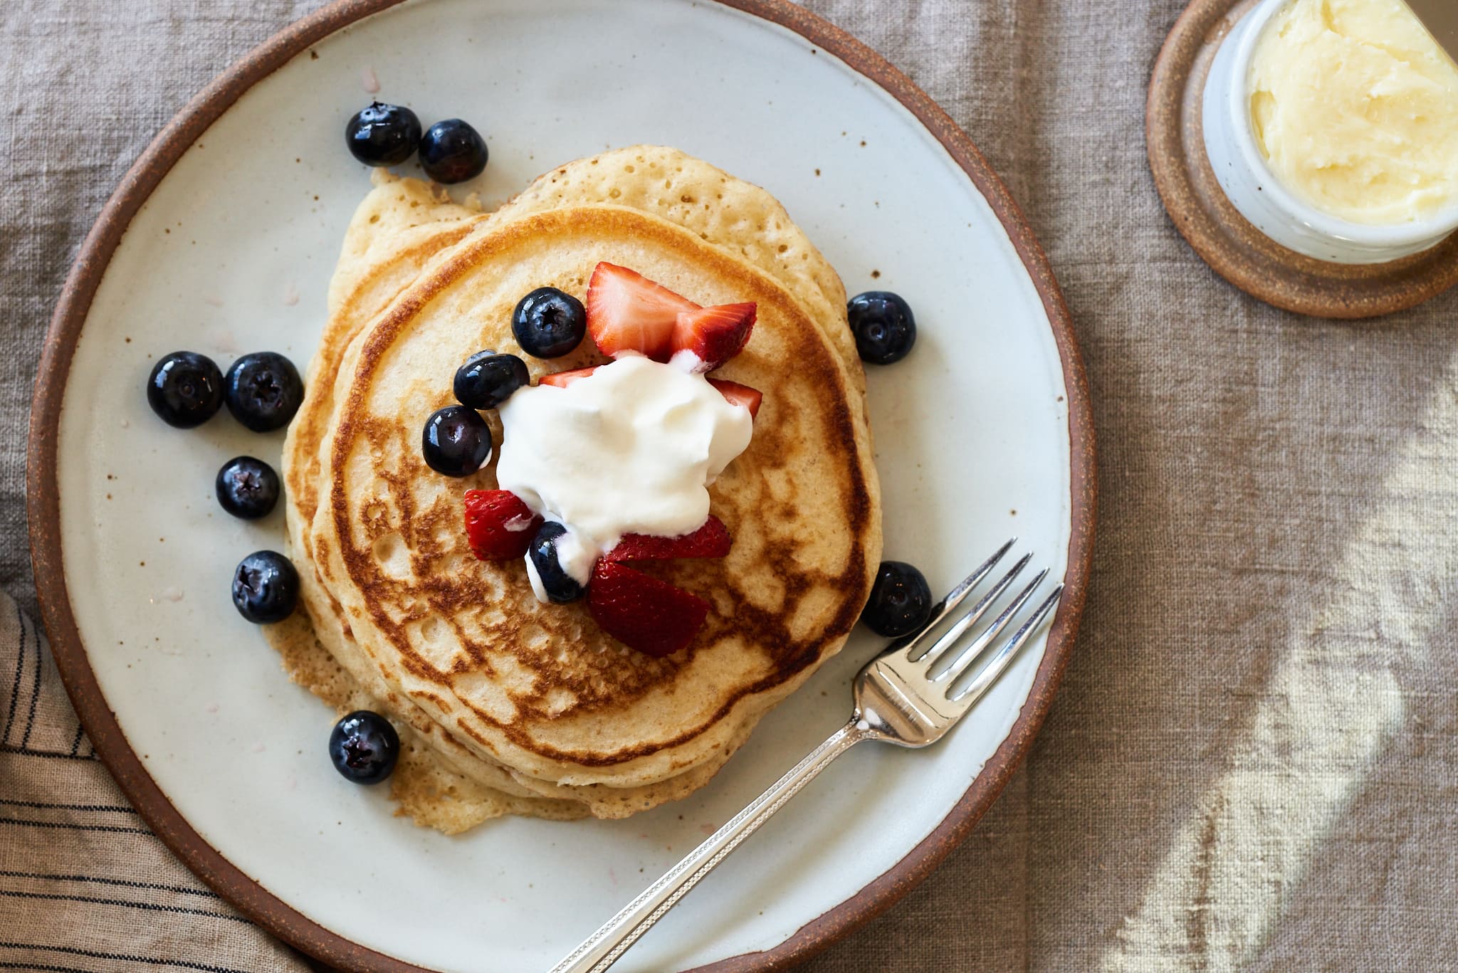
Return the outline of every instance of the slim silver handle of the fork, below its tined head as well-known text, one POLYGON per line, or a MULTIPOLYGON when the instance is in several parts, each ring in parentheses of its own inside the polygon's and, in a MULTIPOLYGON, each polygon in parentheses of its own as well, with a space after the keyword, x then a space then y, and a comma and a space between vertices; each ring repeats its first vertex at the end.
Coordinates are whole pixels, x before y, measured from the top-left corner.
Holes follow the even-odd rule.
POLYGON ((685 855, 643 894, 624 906, 618 915, 602 923, 582 945, 554 966, 551 973, 602 973, 617 963, 628 947, 639 941, 639 937, 652 929, 653 923, 698 884, 700 878, 728 858, 729 852, 739 848, 744 839, 754 834, 761 824, 770 820, 771 814, 784 807, 790 798, 799 794, 800 788, 828 767, 831 760, 873 735, 875 731, 865 728, 854 719, 837 729, 825 743, 795 764, 789 773, 770 785, 768 791, 751 801, 745 810, 733 815, 703 845, 685 855))

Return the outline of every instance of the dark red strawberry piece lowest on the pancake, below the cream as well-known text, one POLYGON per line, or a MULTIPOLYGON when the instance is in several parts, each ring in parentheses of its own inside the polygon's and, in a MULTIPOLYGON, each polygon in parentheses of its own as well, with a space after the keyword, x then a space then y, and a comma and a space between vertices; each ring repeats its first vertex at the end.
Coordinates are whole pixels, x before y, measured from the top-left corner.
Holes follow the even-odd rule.
POLYGON ((625 565, 599 560, 588 585, 588 611, 623 645, 660 659, 694 640, 709 602, 625 565))

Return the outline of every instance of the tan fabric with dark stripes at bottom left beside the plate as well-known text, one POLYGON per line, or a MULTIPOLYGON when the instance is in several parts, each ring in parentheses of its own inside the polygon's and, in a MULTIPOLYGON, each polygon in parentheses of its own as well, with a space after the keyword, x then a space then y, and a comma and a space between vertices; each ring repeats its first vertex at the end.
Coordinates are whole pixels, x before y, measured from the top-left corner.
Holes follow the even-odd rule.
POLYGON ((0 970, 303 973, 133 811, 0 594, 0 970))

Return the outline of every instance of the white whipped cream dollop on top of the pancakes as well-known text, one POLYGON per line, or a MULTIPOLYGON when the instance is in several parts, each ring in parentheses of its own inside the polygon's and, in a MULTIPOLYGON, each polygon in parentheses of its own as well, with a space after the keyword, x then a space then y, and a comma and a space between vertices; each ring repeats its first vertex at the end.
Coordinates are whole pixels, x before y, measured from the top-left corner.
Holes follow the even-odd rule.
MULTIPOLYGON (((627 354, 499 410, 497 486, 567 528, 563 570, 586 585, 624 534, 678 537, 709 519, 709 484, 749 445, 749 410, 703 375, 627 354)), ((532 589, 545 594, 531 566, 532 589)))

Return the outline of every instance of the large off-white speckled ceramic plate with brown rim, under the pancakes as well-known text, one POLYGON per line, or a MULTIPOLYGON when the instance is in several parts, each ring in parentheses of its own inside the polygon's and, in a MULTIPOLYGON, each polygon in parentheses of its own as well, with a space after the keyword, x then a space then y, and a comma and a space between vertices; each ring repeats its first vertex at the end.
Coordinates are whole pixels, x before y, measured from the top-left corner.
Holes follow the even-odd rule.
MULTIPOLYGON (((1088 400, 1069 321, 1006 190, 920 90, 776 0, 360 0, 327 7, 203 92, 128 174, 52 324, 31 443, 45 619, 98 751, 159 834, 267 928, 359 970, 541 970, 835 729, 841 655, 691 798, 625 821, 502 820, 443 837, 330 767, 331 713, 229 602, 281 512, 213 499, 281 433, 163 426, 156 356, 278 350, 300 371, 369 177, 343 144, 370 99, 487 136, 502 200, 554 163, 640 142, 767 187, 856 293, 907 296, 914 353, 870 368, 886 556, 949 588, 1009 535, 1067 597, 943 744, 860 747, 621 964, 765 969, 888 904, 987 808, 1041 722, 1082 605, 1088 400)), ((405 166, 405 172, 413 172, 405 166)))

